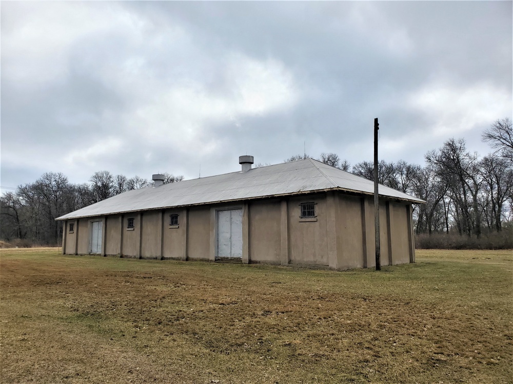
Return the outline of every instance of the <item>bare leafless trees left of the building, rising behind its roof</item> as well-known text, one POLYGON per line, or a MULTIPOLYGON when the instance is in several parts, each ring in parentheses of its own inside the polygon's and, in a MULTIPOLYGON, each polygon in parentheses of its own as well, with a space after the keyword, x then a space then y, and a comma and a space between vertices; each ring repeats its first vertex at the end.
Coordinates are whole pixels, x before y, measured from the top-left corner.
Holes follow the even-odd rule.
MULTIPOLYGON (((164 174, 164 183, 183 176, 164 174)), ((95 172, 89 183, 73 184, 62 173, 45 173, 33 183, 20 185, 0 197, 0 239, 26 239, 30 243, 55 245, 62 237, 62 222, 55 218, 123 192, 149 187, 152 181, 134 176, 95 172)))

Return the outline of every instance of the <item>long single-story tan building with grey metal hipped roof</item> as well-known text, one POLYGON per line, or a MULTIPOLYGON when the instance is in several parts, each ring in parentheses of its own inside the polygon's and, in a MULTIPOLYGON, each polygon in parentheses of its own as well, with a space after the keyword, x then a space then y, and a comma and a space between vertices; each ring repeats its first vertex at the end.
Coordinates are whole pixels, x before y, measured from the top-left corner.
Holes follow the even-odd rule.
MULTIPOLYGON (((313 159, 134 189, 57 218, 64 254, 375 266, 372 181, 313 159)), ((415 262, 412 204, 379 186, 381 264, 415 262)))

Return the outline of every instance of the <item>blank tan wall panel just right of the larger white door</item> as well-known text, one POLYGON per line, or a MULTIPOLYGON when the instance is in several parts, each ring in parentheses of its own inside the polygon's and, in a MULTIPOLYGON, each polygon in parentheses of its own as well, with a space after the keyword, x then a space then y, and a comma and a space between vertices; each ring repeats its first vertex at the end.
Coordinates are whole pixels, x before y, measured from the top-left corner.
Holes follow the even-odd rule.
POLYGON ((249 204, 249 258, 252 262, 281 263, 281 202, 249 204))

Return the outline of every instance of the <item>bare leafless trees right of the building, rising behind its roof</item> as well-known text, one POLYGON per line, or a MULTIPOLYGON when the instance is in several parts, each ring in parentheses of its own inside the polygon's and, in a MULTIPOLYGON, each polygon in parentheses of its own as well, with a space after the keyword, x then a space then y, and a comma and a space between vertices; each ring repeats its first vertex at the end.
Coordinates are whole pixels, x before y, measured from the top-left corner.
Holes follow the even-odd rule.
MULTIPOLYGON (((482 134, 494 152, 481 158, 465 140, 449 139, 425 155, 425 165, 403 160, 378 165, 378 182, 426 201, 415 207, 416 233, 455 231, 468 237, 502 231, 513 220, 513 132, 511 120, 497 120, 482 134)), ((295 155, 285 161, 311 156, 295 155)), ((322 153, 325 164, 374 180, 374 164, 352 167, 337 154, 322 153)))

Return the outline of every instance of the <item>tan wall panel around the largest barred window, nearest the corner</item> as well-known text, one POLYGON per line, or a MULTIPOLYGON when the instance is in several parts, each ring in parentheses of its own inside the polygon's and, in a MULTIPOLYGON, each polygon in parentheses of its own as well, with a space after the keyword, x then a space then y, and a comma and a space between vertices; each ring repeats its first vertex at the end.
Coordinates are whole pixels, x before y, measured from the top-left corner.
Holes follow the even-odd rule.
POLYGON ((289 257, 292 264, 328 265, 326 195, 294 197, 288 206, 289 257), (317 221, 300 219, 301 203, 317 203, 317 221))

